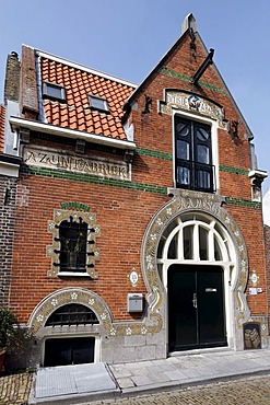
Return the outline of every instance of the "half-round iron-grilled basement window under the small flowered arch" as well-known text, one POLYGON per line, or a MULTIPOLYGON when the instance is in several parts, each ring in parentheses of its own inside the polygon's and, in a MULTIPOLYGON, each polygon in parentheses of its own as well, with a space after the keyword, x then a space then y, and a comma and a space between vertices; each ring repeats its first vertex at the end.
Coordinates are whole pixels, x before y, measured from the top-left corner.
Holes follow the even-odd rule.
POLYGON ((67 304, 58 308, 47 320, 45 326, 93 325, 98 324, 96 314, 82 304, 67 304))

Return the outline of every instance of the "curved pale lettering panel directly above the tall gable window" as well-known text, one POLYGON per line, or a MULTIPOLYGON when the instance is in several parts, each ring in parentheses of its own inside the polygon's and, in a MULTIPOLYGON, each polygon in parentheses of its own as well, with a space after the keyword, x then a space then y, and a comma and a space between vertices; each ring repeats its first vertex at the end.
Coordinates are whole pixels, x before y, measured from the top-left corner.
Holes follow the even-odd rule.
POLYGON ((228 130, 223 108, 198 95, 176 91, 166 92, 165 102, 161 102, 161 113, 172 115, 173 109, 177 108, 207 115, 215 119, 220 128, 228 130))

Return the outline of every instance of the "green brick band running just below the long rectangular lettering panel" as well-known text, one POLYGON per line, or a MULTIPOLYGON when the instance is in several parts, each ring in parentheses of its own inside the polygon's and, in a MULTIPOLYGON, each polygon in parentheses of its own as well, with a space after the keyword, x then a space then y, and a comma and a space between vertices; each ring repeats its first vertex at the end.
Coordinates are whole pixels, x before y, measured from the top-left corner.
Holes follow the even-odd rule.
POLYGON ((104 178, 104 177, 93 176, 91 174, 81 174, 81 173, 67 172, 67 171, 54 170, 54 169, 43 169, 43 167, 35 167, 35 166, 26 166, 26 173, 35 174, 37 176, 72 180, 75 182, 101 184, 104 186, 129 188, 129 189, 134 189, 134 190, 140 190, 140 192, 149 192, 149 193, 167 195, 167 187, 154 186, 152 184, 143 184, 143 183, 125 181, 125 180, 104 178))

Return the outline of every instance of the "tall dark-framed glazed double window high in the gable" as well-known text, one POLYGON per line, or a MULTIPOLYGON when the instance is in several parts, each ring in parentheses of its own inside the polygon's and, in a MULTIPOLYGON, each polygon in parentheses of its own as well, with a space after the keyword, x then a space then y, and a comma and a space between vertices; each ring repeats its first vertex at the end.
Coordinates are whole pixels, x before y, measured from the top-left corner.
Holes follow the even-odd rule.
POLYGON ((176 187, 214 192, 211 126, 175 117, 176 187))

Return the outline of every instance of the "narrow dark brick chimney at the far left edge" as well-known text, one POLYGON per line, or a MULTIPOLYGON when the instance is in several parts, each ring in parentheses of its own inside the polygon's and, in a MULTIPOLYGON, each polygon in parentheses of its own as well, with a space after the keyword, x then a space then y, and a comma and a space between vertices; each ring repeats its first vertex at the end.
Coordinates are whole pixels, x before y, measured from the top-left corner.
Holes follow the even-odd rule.
POLYGON ((19 102, 21 63, 15 51, 8 55, 4 81, 4 103, 8 100, 19 102))

